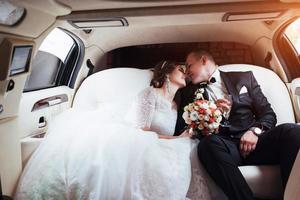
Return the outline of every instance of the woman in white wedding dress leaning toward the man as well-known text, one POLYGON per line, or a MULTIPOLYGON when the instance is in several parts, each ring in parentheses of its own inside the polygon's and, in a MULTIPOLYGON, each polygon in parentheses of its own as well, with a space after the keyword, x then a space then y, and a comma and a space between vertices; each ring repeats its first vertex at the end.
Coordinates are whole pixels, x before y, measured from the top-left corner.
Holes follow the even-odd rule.
POLYGON ((28 161, 15 199, 212 199, 197 141, 186 131, 173 136, 184 70, 159 63, 122 123, 101 110, 60 115, 28 161))

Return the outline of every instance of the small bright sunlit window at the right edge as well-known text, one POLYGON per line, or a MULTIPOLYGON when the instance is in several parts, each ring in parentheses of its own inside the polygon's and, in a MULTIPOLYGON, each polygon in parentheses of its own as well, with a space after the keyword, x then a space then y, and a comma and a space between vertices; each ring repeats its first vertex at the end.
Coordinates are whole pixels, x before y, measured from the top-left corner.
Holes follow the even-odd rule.
POLYGON ((300 54, 300 18, 292 22, 285 29, 284 33, 299 55, 300 54))

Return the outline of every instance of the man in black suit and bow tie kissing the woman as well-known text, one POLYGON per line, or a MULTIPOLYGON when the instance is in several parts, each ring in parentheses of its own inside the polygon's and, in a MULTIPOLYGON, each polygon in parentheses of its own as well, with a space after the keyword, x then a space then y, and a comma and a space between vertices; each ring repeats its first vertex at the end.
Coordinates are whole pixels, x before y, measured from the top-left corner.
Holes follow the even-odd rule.
POLYGON ((175 135, 186 126, 183 108, 193 102, 199 87, 204 85, 204 98, 214 100, 223 111, 231 107, 223 97, 231 95, 230 126, 201 139, 199 159, 230 200, 254 199, 239 165, 279 164, 285 187, 300 147, 300 126, 275 126, 276 115, 252 72, 219 71, 213 57, 198 49, 188 54, 186 65, 192 83, 177 94, 180 102, 175 135))

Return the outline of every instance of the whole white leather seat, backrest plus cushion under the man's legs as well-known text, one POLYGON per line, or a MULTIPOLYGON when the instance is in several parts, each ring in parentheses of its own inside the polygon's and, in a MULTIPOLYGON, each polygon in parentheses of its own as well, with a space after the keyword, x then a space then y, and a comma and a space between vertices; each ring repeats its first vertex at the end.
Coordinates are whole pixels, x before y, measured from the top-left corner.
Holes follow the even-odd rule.
MULTIPOLYGON (((253 65, 233 64, 219 67, 222 71, 253 71, 268 98, 278 124, 295 122, 288 90, 272 71, 253 65)), ((129 107, 132 98, 150 83, 152 72, 134 68, 117 68, 88 77, 79 88, 73 103, 77 109, 96 109, 105 104, 129 107)), ((240 170, 256 197, 276 198, 282 194, 278 166, 242 166, 240 170)))

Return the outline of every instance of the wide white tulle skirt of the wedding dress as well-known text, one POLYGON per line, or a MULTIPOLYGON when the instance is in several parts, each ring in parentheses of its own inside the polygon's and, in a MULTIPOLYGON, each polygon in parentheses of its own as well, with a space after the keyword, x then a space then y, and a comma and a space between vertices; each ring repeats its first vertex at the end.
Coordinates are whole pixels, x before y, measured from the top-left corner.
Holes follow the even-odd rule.
POLYGON ((185 199, 195 145, 71 109, 28 161, 15 199, 185 199))

